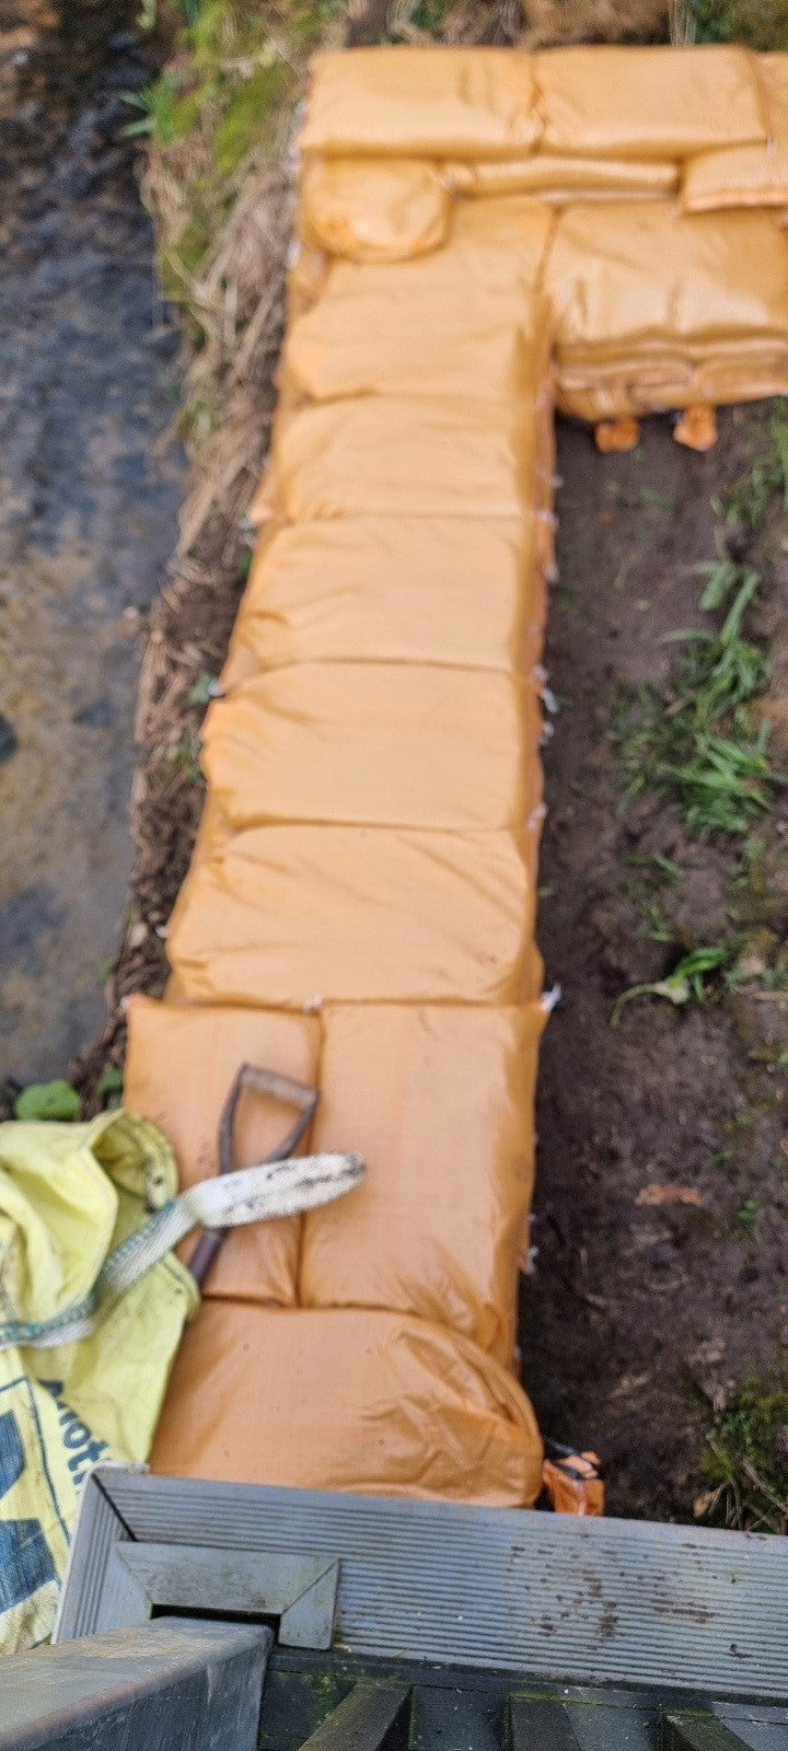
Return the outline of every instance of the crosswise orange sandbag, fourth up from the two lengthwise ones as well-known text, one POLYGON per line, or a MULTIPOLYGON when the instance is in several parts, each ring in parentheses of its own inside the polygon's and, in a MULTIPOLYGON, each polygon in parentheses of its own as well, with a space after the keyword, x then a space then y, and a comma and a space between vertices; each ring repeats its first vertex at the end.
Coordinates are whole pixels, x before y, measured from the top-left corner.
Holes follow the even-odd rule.
POLYGON ((536 401, 331 401, 278 415, 249 517, 520 517, 536 466, 536 401))

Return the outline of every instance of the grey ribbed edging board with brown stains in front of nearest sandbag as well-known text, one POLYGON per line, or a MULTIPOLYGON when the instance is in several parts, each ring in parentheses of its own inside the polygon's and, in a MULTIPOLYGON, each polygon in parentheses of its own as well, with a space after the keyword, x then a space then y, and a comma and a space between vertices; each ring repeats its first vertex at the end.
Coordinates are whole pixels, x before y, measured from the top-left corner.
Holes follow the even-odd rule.
MULTIPOLYGON (((100 1469, 135 1539, 340 1557, 334 1646, 520 1677, 786 1697, 788 1541, 100 1469)), ((102 1628, 86 1501, 60 1637, 102 1628), (74 1602, 72 1602, 74 1600, 74 1602)))

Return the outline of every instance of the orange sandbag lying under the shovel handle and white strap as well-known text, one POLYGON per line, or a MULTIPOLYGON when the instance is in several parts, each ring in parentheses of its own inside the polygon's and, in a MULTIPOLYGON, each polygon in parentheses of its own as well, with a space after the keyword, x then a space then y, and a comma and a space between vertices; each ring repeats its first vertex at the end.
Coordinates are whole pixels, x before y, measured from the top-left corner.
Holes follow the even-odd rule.
MULTIPOLYGON (((182 1189, 219 1168, 219 1122, 242 1065, 277 1070, 313 1087, 320 1023, 263 1009, 175 1009, 133 996, 128 1007, 124 1107, 152 1119, 175 1150, 182 1189)), ((245 1089, 235 1121, 235 1164, 252 1168, 277 1149, 296 1114, 245 1089)), ((301 1217, 231 1229, 203 1285, 205 1296, 296 1301, 301 1217)), ((196 1236, 179 1247, 184 1262, 196 1236)))

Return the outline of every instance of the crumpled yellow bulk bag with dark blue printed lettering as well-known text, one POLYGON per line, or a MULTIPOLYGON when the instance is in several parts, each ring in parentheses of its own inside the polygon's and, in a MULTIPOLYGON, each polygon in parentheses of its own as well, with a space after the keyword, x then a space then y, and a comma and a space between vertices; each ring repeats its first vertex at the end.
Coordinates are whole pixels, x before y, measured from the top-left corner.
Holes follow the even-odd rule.
POLYGON ((51 1632, 88 1471, 147 1459, 198 1290, 172 1254, 119 1278, 116 1248, 175 1194, 142 1119, 0 1126, 0 1653, 51 1632))

